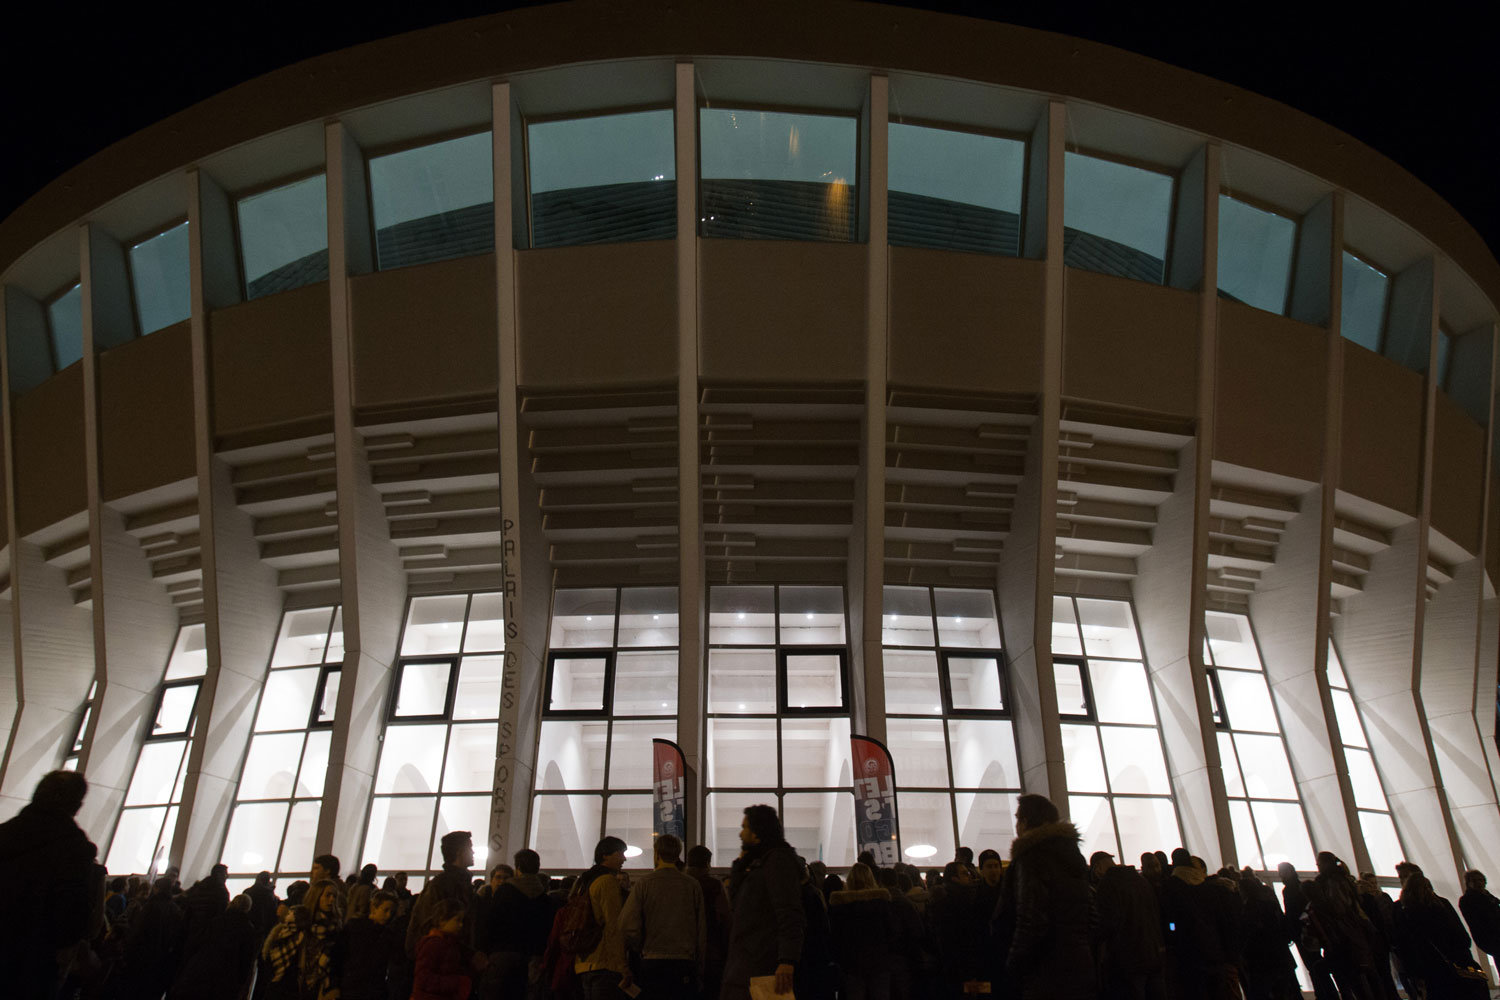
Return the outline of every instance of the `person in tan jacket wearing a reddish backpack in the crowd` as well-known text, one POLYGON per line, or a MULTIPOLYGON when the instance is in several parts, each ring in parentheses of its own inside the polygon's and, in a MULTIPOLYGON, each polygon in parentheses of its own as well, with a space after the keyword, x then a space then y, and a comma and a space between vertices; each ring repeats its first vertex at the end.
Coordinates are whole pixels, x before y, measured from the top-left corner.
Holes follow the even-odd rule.
POLYGON ((626 841, 606 837, 594 847, 594 867, 579 876, 573 895, 558 915, 561 958, 573 958, 584 1000, 621 1000, 632 987, 626 963, 626 939, 620 928, 622 906, 620 880, 626 864, 626 841))

